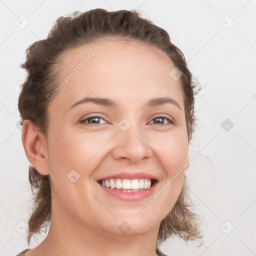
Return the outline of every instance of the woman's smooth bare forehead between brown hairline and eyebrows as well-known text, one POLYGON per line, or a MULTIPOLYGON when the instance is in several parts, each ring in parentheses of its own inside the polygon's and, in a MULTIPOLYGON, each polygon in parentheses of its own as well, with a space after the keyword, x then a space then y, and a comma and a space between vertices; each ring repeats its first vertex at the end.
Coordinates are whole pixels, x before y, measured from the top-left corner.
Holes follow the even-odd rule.
POLYGON ((110 37, 71 48, 60 59, 58 84, 64 86, 50 104, 64 102, 67 109, 84 96, 125 99, 124 103, 127 99, 173 96, 182 105, 180 79, 169 75, 173 62, 151 45, 110 37), (75 75, 68 79, 71 73, 75 75))

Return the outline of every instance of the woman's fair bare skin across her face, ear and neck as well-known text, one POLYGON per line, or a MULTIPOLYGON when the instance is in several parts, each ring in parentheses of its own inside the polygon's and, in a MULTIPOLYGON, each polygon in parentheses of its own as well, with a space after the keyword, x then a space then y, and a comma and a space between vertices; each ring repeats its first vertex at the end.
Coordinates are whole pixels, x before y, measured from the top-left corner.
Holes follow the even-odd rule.
POLYGON ((23 124, 26 156, 50 175, 53 196, 48 234, 27 256, 155 255, 160 222, 183 185, 184 172, 154 202, 122 201, 99 189, 101 177, 141 171, 157 177, 157 191, 188 160, 188 137, 180 79, 170 77, 174 65, 155 47, 111 37, 69 49, 61 55, 60 82, 94 48, 98 54, 50 100, 48 137, 30 121, 23 124), (111 98, 119 106, 90 102, 68 110, 84 96, 111 98), (144 106, 166 96, 181 110, 170 103, 144 106), (103 119, 94 120, 97 126, 79 122, 89 114, 103 119), (161 114, 175 123, 157 123, 161 114), (123 118, 131 123, 125 132, 118 126, 123 118), (66 177, 72 169, 80 175, 74 183, 66 177), (131 227, 126 234, 118 228, 123 221, 131 227))

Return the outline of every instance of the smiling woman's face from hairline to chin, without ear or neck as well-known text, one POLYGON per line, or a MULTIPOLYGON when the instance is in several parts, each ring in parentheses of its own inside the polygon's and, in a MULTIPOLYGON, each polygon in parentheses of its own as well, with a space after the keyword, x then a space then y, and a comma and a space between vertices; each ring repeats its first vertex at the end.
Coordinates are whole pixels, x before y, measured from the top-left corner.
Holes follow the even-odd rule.
POLYGON ((172 176, 188 159, 181 79, 173 75, 172 61, 152 46, 118 38, 69 49, 60 58, 63 83, 49 99, 44 170, 52 208, 102 234, 158 230, 183 185, 184 172, 172 176), (72 107, 85 97, 94 102, 72 107), (172 100, 152 101, 166 97, 172 100), (147 105, 150 100, 156 103, 147 105), (137 192, 98 182, 125 187, 124 179, 135 180, 136 188, 152 177, 157 182, 137 192))

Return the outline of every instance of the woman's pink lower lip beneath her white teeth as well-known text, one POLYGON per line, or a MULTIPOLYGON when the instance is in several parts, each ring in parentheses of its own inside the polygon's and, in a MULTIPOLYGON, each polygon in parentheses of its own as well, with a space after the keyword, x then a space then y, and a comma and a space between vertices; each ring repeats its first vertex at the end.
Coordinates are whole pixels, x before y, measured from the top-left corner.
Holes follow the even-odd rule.
MULTIPOLYGON (((97 182, 98 183, 98 182, 97 182)), ((141 191, 137 191, 137 192, 124 192, 118 189, 111 189, 111 188, 107 188, 105 186, 101 186, 99 183, 98 185, 109 195, 123 200, 123 201, 139 201, 142 200, 146 197, 149 197, 155 188, 155 185, 157 184, 157 182, 155 182, 150 188, 148 189, 144 189, 141 191)))

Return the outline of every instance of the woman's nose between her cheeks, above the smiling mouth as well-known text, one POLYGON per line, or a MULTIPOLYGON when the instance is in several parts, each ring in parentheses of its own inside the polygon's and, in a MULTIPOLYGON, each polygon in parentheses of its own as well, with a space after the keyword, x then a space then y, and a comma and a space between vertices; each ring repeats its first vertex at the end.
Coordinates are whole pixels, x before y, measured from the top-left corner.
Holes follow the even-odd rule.
POLYGON ((131 125, 126 131, 118 130, 114 137, 112 156, 117 160, 126 159, 130 163, 136 163, 150 158, 152 154, 145 133, 135 128, 135 125, 131 125))

